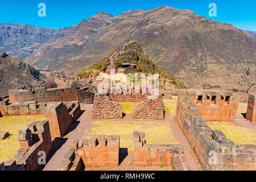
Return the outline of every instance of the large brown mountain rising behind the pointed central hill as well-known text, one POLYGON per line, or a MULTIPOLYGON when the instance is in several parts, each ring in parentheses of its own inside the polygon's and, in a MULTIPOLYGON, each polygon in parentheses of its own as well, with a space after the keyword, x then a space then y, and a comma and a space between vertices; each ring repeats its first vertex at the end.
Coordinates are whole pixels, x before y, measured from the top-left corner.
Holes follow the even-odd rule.
POLYGON ((82 20, 73 31, 32 53, 26 61, 38 68, 81 72, 120 44, 137 40, 155 64, 175 77, 256 68, 255 39, 232 24, 168 6, 131 10, 117 17, 104 14, 111 18, 82 20))

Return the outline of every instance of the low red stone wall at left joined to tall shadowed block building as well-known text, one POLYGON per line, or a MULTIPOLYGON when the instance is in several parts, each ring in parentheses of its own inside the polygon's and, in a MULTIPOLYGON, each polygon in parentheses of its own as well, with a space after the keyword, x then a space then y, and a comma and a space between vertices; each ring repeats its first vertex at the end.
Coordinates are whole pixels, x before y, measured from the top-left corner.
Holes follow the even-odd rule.
POLYGON ((9 104, 8 100, 0 101, 2 116, 44 115, 49 121, 51 136, 61 138, 81 114, 79 101, 72 102, 16 102, 9 104))

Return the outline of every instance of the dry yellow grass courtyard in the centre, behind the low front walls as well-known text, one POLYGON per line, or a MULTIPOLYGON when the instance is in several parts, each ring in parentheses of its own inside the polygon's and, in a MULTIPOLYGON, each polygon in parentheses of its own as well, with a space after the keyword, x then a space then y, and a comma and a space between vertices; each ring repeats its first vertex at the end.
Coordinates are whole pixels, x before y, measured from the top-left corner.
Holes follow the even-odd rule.
POLYGON ((144 131, 149 144, 178 144, 169 123, 159 121, 94 121, 85 131, 84 139, 92 135, 119 135, 120 147, 133 151, 133 131, 144 131))

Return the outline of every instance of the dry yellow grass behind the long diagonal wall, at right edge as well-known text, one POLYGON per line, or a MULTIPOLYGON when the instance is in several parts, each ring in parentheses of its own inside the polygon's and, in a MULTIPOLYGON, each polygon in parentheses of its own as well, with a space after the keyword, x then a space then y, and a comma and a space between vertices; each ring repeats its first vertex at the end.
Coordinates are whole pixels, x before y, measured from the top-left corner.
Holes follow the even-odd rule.
POLYGON ((226 138, 236 144, 256 144, 255 130, 225 123, 212 123, 209 127, 212 130, 221 130, 226 135, 226 138))

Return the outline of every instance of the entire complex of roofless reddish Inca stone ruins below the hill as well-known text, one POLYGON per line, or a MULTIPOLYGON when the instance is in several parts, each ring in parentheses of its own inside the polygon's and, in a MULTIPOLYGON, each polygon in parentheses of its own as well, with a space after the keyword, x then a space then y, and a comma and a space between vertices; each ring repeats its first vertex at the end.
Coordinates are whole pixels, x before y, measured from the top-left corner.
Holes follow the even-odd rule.
MULTIPOLYGON (((170 115, 166 110, 166 100, 170 103, 175 101, 173 91, 162 90, 157 98, 150 98, 150 93, 143 93, 142 88, 139 88, 137 93, 135 89, 131 89, 131 93, 129 90, 123 92, 119 89, 114 93, 110 90, 109 93, 101 93, 92 86, 96 82, 93 76, 90 76, 87 82, 80 78, 68 80, 62 72, 60 73, 62 76, 58 85, 53 81, 18 83, 14 85, 14 89, 9 90, 9 96, 0 97, 0 114, 3 118, 36 115, 45 118, 44 121, 34 121, 19 128, 20 148, 12 160, 0 163, 1 170, 42 169, 42 165, 38 163, 40 151, 44 151, 47 157, 50 156, 45 170, 121 168, 121 164, 126 165, 125 161, 130 160, 130 156, 133 159, 130 163, 135 169, 171 166, 177 171, 195 170, 195 164, 191 163, 191 156, 188 155, 188 148, 191 148, 192 154, 195 155, 193 160, 198 161, 197 165, 204 170, 256 169, 255 144, 236 144, 222 131, 212 130, 208 126, 214 122, 236 122, 240 96, 232 91, 179 90, 175 93, 176 112, 170 115), (130 114, 125 113, 127 106, 123 103, 130 108, 130 114), (175 129, 175 133, 184 138, 187 144, 166 144, 156 138, 155 141, 158 142, 155 143, 150 135, 145 135, 143 129, 134 129, 129 133, 132 147, 127 146, 125 155, 121 144, 123 145, 126 139, 122 134, 116 135, 106 128, 104 133, 95 133, 97 130, 93 130, 93 134, 88 135, 87 139, 81 135, 82 131, 88 132, 87 128, 82 129, 83 124, 108 122, 111 125, 120 122, 120 128, 116 130, 121 131, 125 130, 122 129, 122 122, 127 120, 130 121, 130 126, 144 121, 154 122, 156 126, 162 122, 171 126, 176 123, 177 128, 164 129, 175 129), (67 147, 53 151, 55 140, 69 138, 69 135, 73 137, 64 143, 67 147), (148 142, 147 138, 150 138, 151 142, 148 142), (216 163, 210 160, 212 153, 216 155, 216 163), (61 155, 61 160, 53 161, 55 155, 61 155)), ((254 94, 251 93, 246 114, 249 123, 255 122, 254 113, 254 94)), ((144 125, 146 130, 146 123, 144 125)), ((167 143, 172 142, 161 133, 154 134, 158 134, 158 137, 162 137, 167 143)), ((0 132, 0 139, 3 141, 7 141, 10 136, 9 131, 0 132)))

